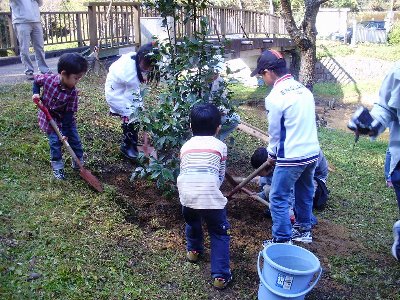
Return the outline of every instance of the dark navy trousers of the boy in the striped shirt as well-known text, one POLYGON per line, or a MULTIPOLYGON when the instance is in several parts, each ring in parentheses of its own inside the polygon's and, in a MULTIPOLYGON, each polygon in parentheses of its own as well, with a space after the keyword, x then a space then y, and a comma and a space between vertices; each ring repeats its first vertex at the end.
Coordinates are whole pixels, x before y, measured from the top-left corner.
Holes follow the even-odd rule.
POLYGON ((231 225, 226 219, 226 209, 193 209, 182 207, 186 222, 186 240, 188 251, 204 251, 202 219, 207 224, 211 242, 211 276, 228 279, 229 268, 229 229, 231 225))

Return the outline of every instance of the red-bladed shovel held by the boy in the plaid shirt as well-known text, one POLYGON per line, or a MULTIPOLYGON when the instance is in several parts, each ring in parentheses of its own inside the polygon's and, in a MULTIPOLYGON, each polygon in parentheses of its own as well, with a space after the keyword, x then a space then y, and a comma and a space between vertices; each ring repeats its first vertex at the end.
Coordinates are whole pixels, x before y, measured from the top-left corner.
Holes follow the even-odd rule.
POLYGON ((44 106, 43 104, 41 104, 39 102, 39 98, 35 98, 33 100, 33 102, 35 102, 35 104, 37 105, 37 107, 40 108, 41 111, 44 112, 44 114, 46 115, 46 119, 47 121, 49 121, 49 123, 51 124, 51 126, 53 127, 54 131, 57 133, 58 138, 60 139, 60 141, 64 144, 65 148, 67 148, 69 154, 72 156, 72 159, 75 161, 75 163, 79 166, 79 175, 81 175, 81 177, 87 182, 89 183, 89 185, 91 187, 93 187, 96 191, 98 192, 102 192, 103 191, 103 185, 102 183, 92 174, 90 173, 89 170, 85 169, 81 163, 81 161, 79 160, 79 158, 76 156, 74 150, 72 150, 71 146, 69 145, 67 138, 65 136, 63 136, 60 132, 60 130, 58 129, 58 126, 56 124, 56 122, 54 122, 53 118, 51 117, 49 111, 47 110, 47 107, 44 106))

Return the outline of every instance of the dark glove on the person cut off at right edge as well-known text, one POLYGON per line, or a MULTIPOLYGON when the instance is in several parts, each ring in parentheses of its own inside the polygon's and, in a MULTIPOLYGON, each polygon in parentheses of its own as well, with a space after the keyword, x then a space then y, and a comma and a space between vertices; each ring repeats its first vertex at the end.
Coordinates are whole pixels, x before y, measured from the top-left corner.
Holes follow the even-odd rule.
POLYGON ((381 126, 381 123, 375 120, 369 113, 368 109, 363 106, 356 110, 347 124, 347 127, 357 135, 364 134, 372 137, 378 135, 381 126))

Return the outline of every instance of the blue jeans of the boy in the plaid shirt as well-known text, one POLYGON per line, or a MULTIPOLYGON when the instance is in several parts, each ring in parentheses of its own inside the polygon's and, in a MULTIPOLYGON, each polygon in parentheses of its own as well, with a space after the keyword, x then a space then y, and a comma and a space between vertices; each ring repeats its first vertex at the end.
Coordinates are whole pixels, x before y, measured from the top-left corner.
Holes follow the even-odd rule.
MULTIPOLYGON (((61 132, 68 138, 68 143, 74 150, 76 156, 83 161, 83 148, 81 139, 79 138, 78 130, 73 122, 63 122, 61 132)), ((47 135, 49 138, 50 145, 50 160, 51 166, 54 170, 63 169, 64 161, 62 158, 61 146, 62 142, 58 138, 57 134, 53 131, 47 135)))

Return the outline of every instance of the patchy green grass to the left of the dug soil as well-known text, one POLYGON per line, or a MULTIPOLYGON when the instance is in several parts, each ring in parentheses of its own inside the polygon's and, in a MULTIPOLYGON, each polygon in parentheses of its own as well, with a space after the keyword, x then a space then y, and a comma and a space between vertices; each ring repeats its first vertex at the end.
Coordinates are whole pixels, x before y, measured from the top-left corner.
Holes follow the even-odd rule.
MULTIPOLYGON (((118 121, 107 116, 103 83, 93 79, 81 83, 78 120, 88 168, 120 160, 118 121)), ((151 249, 125 222, 115 187, 93 192, 69 168, 69 180, 52 180, 30 90, 0 88, 0 298, 204 298, 206 286, 192 289, 198 266, 182 260, 184 249, 151 249), (27 281, 33 272, 41 278, 27 281)))

